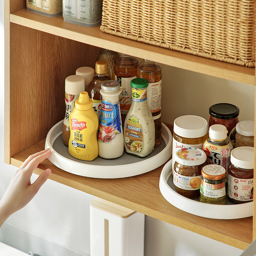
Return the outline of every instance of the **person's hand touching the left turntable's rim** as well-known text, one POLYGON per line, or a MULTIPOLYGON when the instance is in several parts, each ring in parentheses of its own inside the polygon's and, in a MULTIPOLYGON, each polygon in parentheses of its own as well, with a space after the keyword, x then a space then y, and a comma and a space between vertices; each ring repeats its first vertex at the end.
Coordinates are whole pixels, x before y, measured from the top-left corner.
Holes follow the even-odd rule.
POLYGON ((27 205, 37 194, 43 183, 46 182, 51 174, 51 169, 46 169, 42 172, 33 184, 31 184, 30 178, 34 169, 50 154, 51 150, 46 149, 29 156, 18 171, 15 172, 0 201, 0 226, 11 214, 27 205))

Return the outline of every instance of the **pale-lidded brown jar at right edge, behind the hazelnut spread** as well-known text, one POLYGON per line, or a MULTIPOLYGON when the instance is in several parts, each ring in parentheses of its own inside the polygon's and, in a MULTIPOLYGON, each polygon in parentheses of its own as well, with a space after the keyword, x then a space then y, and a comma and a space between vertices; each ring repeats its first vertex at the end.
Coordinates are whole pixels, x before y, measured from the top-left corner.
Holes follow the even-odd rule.
POLYGON ((236 148, 254 146, 254 121, 242 121, 236 125, 236 148))

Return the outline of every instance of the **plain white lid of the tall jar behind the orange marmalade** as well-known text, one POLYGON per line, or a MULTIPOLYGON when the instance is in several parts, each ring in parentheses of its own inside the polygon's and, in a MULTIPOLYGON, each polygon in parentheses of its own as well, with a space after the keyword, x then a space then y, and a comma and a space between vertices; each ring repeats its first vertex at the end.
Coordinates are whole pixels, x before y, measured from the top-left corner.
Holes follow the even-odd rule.
POLYGON ((199 138, 208 132, 207 121, 196 115, 183 115, 174 120, 173 131, 184 138, 199 138))

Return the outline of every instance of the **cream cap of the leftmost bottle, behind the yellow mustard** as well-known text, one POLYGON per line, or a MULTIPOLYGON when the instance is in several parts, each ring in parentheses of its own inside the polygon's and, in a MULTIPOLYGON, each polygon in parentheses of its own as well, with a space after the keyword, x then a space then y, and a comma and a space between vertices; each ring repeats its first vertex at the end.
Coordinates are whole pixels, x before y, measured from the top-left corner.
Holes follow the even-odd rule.
POLYGON ((84 78, 73 74, 65 79, 65 92, 72 95, 80 94, 84 91, 84 78))

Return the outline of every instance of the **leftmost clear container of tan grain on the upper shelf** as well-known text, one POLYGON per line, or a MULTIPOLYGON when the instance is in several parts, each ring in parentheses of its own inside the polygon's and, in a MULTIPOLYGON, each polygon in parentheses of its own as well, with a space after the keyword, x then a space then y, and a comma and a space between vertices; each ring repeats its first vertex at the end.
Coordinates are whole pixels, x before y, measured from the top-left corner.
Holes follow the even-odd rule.
POLYGON ((48 17, 62 13, 62 0, 26 0, 27 10, 48 17))

